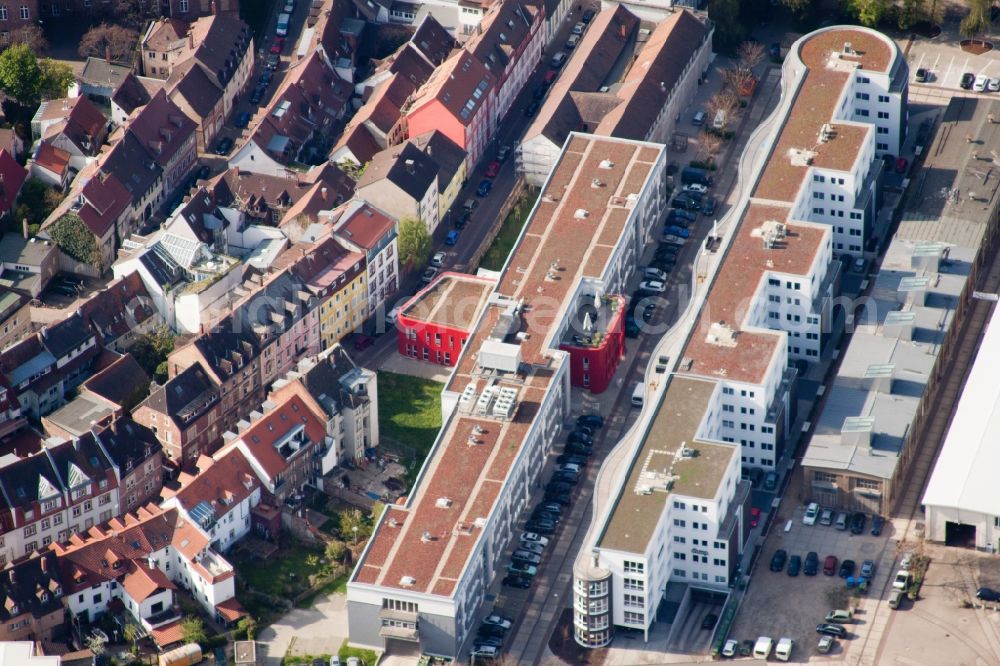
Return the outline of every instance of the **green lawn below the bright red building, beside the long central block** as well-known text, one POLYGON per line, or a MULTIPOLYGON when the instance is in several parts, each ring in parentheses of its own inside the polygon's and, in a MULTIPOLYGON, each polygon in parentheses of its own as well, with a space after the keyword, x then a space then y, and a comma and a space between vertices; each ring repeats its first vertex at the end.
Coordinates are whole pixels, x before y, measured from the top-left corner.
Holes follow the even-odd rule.
POLYGON ((383 435, 416 451, 421 462, 441 429, 441 390, 444 384, 378 373, 378 425, 383 435))

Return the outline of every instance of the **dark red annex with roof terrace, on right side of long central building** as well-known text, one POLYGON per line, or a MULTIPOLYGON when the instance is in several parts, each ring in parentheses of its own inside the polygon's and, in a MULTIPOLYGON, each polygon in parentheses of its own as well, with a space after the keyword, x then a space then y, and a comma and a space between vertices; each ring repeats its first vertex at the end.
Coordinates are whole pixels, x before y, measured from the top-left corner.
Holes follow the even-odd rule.
POLYGON ((625 355, 625 299, 607 296, 599 309, 587 305, 578 315, 576 325, 559 345, 569 352, 570 383, 591 393, 603 393, 625 355), (585 315, 590 318, 589 328, 583 323, 585 315))

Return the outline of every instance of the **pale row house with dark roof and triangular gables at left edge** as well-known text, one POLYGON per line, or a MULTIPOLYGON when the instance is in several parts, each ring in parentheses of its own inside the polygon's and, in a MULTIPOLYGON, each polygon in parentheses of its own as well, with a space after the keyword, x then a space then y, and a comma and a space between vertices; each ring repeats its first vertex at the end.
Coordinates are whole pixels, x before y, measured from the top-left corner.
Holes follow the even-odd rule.
POLYGON ((0 560, 86 532, 119 513, 115 466, 93 434, 47 443, 0 468, 0 560))

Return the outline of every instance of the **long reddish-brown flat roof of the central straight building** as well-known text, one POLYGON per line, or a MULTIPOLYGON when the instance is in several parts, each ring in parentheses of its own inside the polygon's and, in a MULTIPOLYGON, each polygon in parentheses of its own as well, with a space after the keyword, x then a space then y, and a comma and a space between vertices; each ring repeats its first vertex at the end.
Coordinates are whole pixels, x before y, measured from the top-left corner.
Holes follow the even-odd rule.
POLYGON ((625 205, 628 195, 643 192, 662 158, 663 147, 655 144, 579 134, 568 139, 449 384, 457 393, 472 387, 473 395, 481 395, 488 382, 512 391, 513 414, 489 418, 460 402, 413 494, 384 514, 352 583, 454 594, 563 362, 564 353, 555 351, 559 341, 551 340, 558 326, 551 322, 563 320, 568 297, 585 276, 604 276, 609 246, 620 239, 632 210, 625 205), (594 187, 598 176, 603 185, 594 187), (580 209, 588 214, 577 216, 580 209), (524 316, 515 321, 510 305, 518 302, 524 316), (533 306, 541 312, 546 304, 544 321, 532 322, 533 306), (516 374, 484 377, 477 357, 498 325, 511 338, 529 325, 531 333, 509 345, 520 353, 516 374))

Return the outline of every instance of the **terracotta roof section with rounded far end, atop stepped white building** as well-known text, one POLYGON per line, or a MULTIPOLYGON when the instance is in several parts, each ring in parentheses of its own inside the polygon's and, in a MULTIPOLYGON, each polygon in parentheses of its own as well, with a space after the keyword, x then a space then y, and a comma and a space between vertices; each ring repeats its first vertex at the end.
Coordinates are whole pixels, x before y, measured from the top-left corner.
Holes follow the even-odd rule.
POLYGON ((754 196, 795 199, 809 167, 792 164, 792 150, 813 151, 814 167, 851 170, 865 137, 875 129, 870 123, 835 121, 837 104, 855 72, 887 70, 893 56, 887 40, 865 30, 843 29, 820 33, 802 44, 799 56, 808 69, 754 196), (843 53, 847 43, 854 55, 843 53), (844 67, 845 63, 858 63, 861 69, 844 67), (823 142, 820 130, 825 123, 832 125, 833 136, 823 142))

